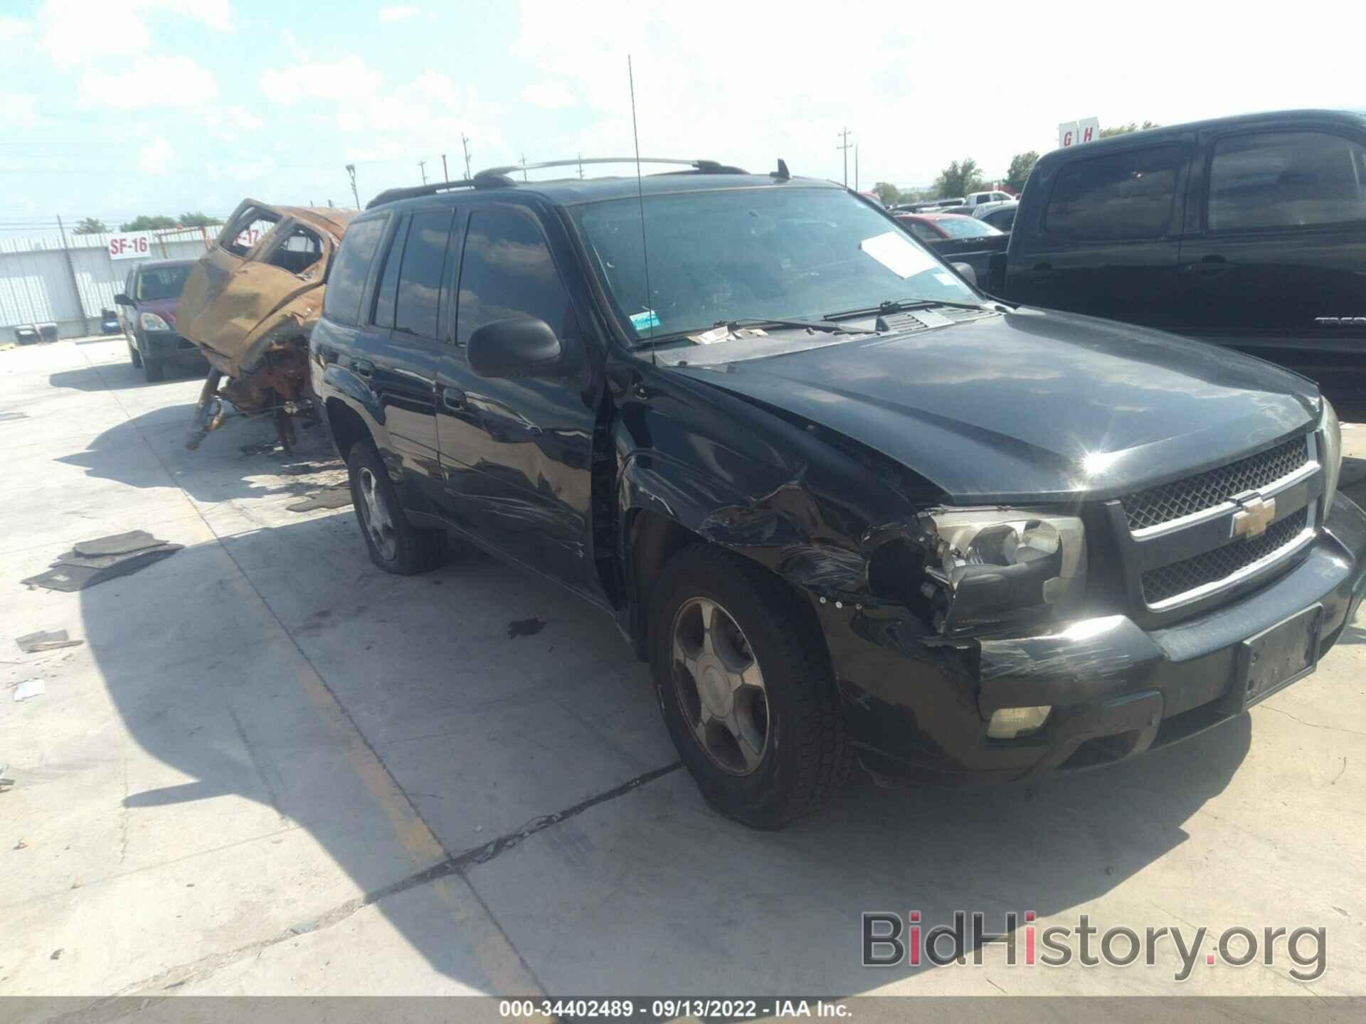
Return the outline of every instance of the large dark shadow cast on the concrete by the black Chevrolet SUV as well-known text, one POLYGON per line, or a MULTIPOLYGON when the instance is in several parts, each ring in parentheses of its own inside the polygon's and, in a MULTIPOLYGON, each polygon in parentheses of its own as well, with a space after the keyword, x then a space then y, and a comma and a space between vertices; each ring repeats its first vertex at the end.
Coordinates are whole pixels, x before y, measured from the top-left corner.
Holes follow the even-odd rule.
MULTIPOLYGON (((350 515, 191 546, 81 602, 117 713, 173 770, 127 796, 143 834, 178 827, 184 804, 238 796, 306 830, 369 894, 411 872, 385 815, 363 811, 373 789, 332 750, 321 687, 555 994, 882 986, 911 968, 859 967, 862 911, 951 923, 979 909, 1000 931, 1005 911, 1082 907, 1186 841, 1251 736, 1243 715, 1046 785, 861 780, 781 833, 719 816, 679 770, 494 848, 676 759, 609 617, 489 558, 381 573, 350 515), (544 628, 510 628, 529 613, 544 628)), ((449 919, 377 905, 434 969, 488 987, 449 919)))

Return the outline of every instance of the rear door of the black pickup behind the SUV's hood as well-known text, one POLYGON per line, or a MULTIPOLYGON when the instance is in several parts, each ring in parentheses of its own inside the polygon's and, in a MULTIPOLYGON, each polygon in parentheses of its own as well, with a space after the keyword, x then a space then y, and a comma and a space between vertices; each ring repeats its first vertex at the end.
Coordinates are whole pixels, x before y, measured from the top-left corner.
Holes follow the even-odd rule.
POLYGON ((1044 202, 1015 223, 1007 294, 1045 306, 1168 326, 1194 139, 1075 157, 1041 180, 1044 202), (1023 236, 1022 236, 1023 231, 1023 236))

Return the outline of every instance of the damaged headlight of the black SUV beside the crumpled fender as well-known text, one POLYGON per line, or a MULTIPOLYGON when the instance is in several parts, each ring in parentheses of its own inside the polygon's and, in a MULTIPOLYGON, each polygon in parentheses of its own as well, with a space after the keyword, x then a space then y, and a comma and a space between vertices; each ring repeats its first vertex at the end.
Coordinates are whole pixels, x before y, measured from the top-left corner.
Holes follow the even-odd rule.
POLYGON ((1041 509, 926 513, 933 550, 925 597, 941 632, 1076 608, 1086 594, 1086 530, 1041 509))

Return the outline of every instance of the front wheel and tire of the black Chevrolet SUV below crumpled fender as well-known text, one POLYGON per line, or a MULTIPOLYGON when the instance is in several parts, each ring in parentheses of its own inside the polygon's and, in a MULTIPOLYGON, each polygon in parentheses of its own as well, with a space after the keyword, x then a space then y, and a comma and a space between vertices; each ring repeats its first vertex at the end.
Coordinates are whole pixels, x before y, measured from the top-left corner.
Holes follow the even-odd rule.
POLYGON ((780 829, 826 803, 848 781, 854 755, 820 627, 776 576, 714 545, 697 543, 680 552, 665 565, 654 590, 650 653, 664 724, 702 796, 721 814, 755 829, 780 829), (705 649, 691 669, 686 665, 698 650, 695 624, 705 624, 709 602, 729 620, 714 620, 721 632, 710 657, 716 665, 725 664, 720 674, 734 672, 731 666, 743 665, 747 655, 759 669, 762 685, 762 707, 753 685, 742 681, 732 691, 725 702, 732 724, 724 729, 719 729, 714 710, 724 698, 705 681, 697 684, 708 673, 705 649), (724 639, 725 634, 731 639, 724 639), (738 661, 729 661, 736 655, 738 661), (702 696, 703 689, 710 696, 702 696), (749 710, 743 711, 740 696, 746 692, 749 710), (712 707, 703 711, 709 700, 712 707), (699 717, 706 715, 712 722, 699 726, 699 717), (761 717, 759 744, 754 740, 761 717), (735 720, 743 722, 739 732, 735 720), (709 739, 703 740, 699 729, 709 739), (732 740, 738 758, 728 754, 732 740))

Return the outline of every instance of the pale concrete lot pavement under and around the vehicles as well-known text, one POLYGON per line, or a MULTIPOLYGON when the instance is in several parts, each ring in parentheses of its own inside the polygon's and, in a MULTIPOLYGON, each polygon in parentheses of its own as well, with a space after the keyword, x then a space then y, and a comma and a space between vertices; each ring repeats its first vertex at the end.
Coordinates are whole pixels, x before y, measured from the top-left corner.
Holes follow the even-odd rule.
POLYGON ((122 341, 0 352, 0 994, 1366 994, 1361 623, 1161 755, 856 782, 754 833, 676 769, 605 616, 482 556, 378 572, 350 508, 285 509, 342 478, 321 431, 284 456, 236 421, 187 452, 198 386, 145 384, 122 341), (78 594, 19 583, 137 528, 186 547, 78 594), (14 644, 61 628, 85 644, 14 644), (45 695, 14 702, 27 679, 45 695), (911 909, 1322 926, 1328 972, 1303 986, 1283 953, 1176 986, 1171 946, 1154 968, 861 968, 861 912, 911 909))

